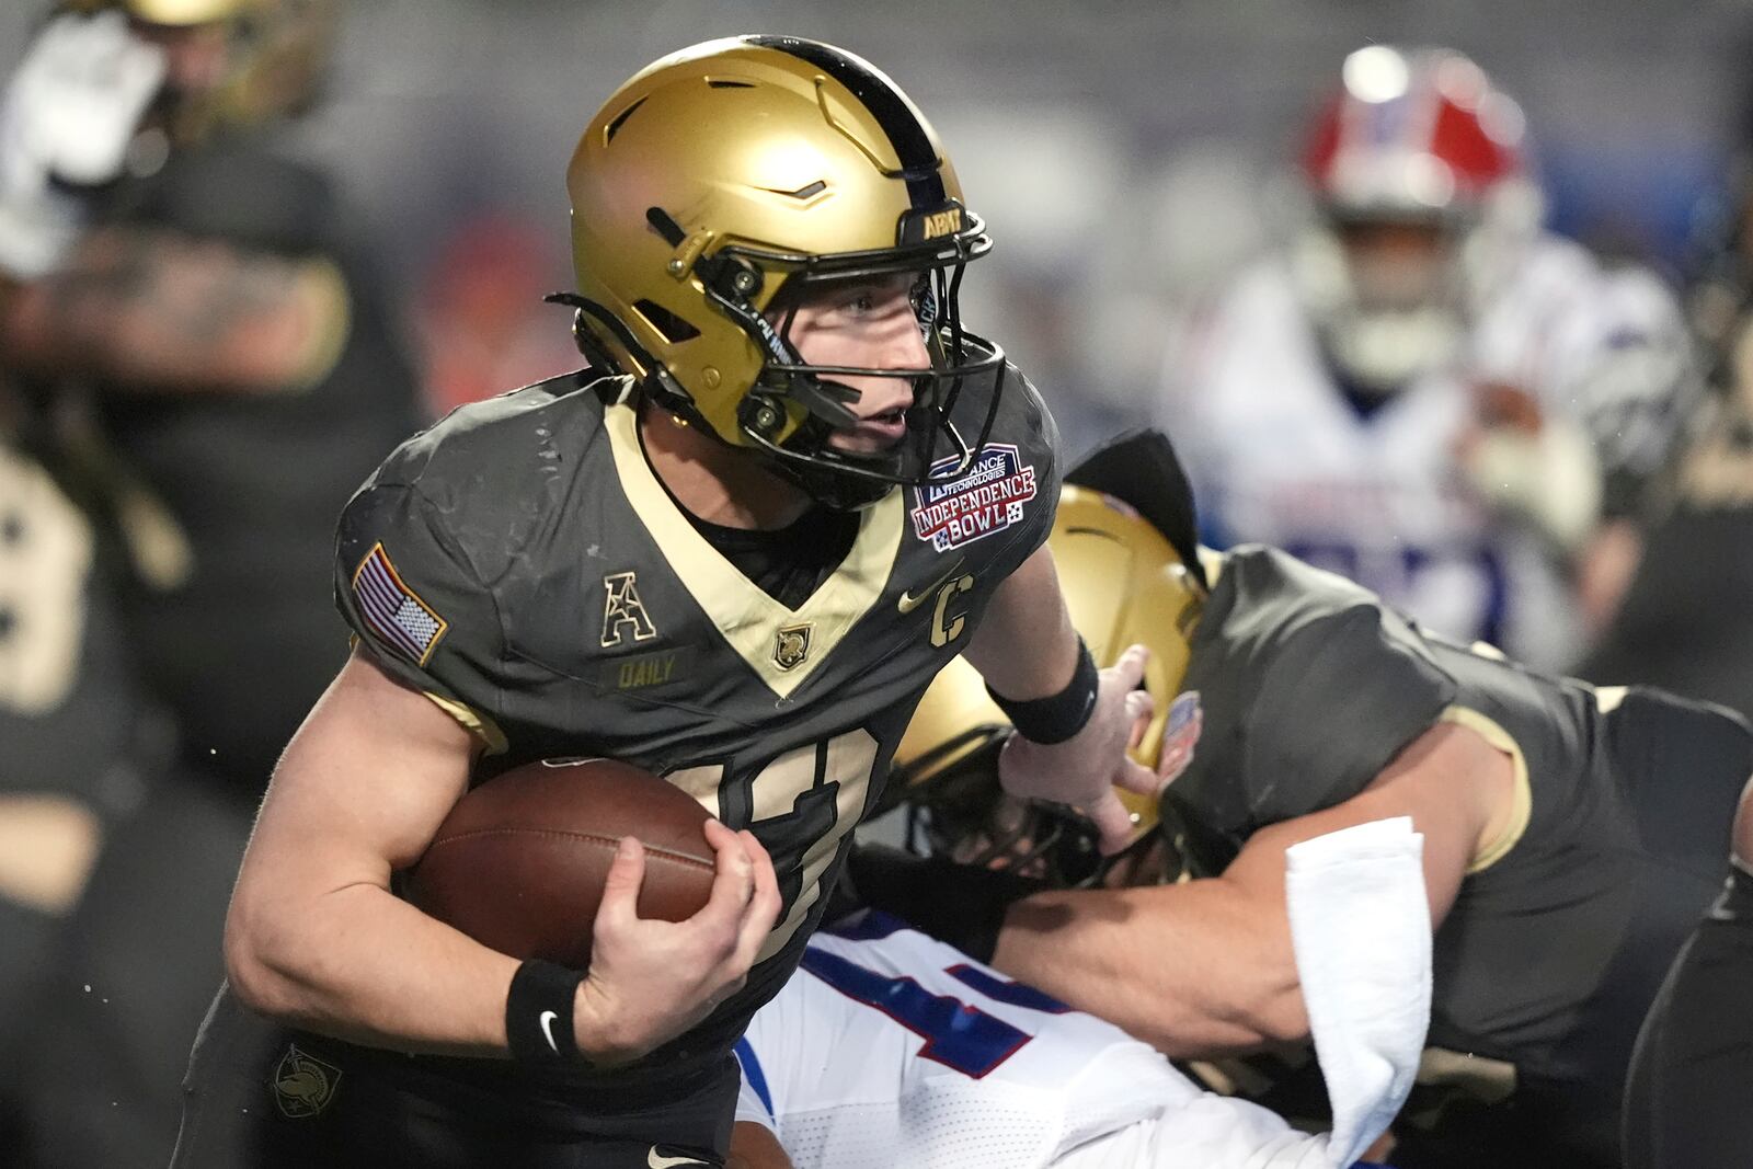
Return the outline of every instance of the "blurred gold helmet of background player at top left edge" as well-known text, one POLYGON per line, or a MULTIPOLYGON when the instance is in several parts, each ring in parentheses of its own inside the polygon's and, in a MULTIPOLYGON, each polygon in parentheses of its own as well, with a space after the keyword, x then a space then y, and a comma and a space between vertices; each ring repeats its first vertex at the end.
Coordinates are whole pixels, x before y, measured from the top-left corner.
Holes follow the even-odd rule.
POLYGON ((174 60, 156 117, 184 145, 302 112, 321 89, 340 21, 340 0, 68 0, 65 7, 119 9, 165 46, 174 60))

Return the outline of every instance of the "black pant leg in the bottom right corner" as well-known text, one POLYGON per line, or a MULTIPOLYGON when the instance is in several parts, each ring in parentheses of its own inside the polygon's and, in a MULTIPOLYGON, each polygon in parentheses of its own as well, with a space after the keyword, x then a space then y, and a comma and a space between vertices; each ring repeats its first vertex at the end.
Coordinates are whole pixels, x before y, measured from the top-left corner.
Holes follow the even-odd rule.
POLYGON ((1679 952, 1637 1038, 1625 1165, 1753 1165, 1753 875, 1741 869, 1679 952))

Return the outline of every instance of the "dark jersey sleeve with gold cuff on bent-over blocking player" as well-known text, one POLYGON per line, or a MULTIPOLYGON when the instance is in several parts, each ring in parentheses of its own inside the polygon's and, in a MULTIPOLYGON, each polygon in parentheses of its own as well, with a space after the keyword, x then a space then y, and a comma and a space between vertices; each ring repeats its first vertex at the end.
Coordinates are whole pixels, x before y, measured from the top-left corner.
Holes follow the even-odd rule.
POLYGON ((1309 620, 1283 640, 1246 715, 1253 822, 1357 796, 1453 698, 1453 678, 1395 613, 1355 605, 1309 620))

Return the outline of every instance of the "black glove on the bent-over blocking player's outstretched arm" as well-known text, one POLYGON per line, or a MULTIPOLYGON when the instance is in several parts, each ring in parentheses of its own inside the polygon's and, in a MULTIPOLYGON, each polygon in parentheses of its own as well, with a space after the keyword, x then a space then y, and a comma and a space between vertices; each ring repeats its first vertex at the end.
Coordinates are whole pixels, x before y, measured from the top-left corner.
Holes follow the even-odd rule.
POLYGON ((978 962, 990 962, 1004 911, 1043 889, 1047 882, 1004 869, 859 845, 847 857, 824 920, 854 910, 880 910, 978 962))

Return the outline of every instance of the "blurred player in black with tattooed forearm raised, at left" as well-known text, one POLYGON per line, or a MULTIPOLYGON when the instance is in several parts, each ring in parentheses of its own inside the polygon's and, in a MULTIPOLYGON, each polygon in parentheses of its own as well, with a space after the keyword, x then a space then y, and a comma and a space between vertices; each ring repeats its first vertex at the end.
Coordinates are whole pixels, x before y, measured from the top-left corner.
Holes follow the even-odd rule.
POLYGON ((345 657, 335 512, 421 417, 349 212, 272 135, 337 9, 68 4, 0 112, 0 361, 128 552, 128 654, 177 733, 70 924, 32 1076, 46 1165, 168 1155, 249 817, 345 657))

